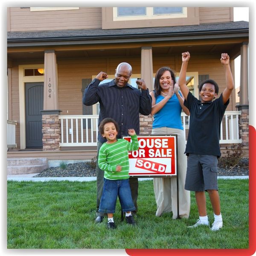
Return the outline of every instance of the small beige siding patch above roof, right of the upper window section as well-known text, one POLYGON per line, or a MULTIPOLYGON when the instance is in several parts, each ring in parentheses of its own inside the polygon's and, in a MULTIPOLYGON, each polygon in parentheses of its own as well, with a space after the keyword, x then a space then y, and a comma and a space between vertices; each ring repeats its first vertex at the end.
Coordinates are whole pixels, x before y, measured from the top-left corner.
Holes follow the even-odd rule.
POLYGON ((200 7, 199 20, 200 24, 233 21, 233 7, 200 7))

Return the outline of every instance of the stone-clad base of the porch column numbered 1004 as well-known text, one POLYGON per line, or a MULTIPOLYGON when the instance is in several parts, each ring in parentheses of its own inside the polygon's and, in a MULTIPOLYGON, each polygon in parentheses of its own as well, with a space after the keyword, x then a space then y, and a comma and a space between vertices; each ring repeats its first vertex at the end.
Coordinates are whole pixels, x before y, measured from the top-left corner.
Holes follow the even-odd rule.
POLYGON ((42 115, 43 151, 60 150, 61 123, 58 114, 42 115))

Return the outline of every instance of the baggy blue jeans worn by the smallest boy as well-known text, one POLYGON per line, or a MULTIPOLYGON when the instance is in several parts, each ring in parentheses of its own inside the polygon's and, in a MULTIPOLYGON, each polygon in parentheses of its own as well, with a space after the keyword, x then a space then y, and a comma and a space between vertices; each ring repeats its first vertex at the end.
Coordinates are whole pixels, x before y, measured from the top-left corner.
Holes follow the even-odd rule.
POLYGON ((99 212, 115 212, 117 196, 119 197, 123 212, 130 212, 136 209, 131 198, 129 179, 108 180, 104 178, 102 198, 99 204, 99 212))

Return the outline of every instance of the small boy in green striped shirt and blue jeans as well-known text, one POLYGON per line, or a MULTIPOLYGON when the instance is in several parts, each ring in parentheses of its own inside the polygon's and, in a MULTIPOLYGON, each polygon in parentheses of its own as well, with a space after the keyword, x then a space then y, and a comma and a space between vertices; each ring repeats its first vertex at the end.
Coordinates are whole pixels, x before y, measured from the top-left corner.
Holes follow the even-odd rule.
POLYGON ((108 228, 116 228, 113 220, 113 212, 116 209, 116 199, 119 201, 125 220, 128 224, 135 225, 131 211, 135 210, 131 198, 129 185, 129 159, 128 151, 139 149, 137 135, 134 129, 128 129, 131 136, 131 143, 124 139, 116 139, 118 124, 112 118, 105 118, 99 125, 99 132, 107 139, 99 150, 99 168, 104 170, 104 185, 102 198, 99 205, 99 212, 108 214, 108 228))

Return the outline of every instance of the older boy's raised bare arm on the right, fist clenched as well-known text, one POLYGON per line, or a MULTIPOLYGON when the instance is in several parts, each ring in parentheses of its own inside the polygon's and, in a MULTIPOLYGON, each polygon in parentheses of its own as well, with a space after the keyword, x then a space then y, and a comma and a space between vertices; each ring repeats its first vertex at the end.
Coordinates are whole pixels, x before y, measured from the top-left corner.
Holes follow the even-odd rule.
POLYGON ((227 53, 221 53, 221 64, 225 69, 225 77, 226 77, 226 88, 222 93, 222 99, 224 104, 228 101, 230 94, 234 89, 234 81, 233 81, 233 76, 230 69, 229 60, 230 60, 230 57, 227 53))

